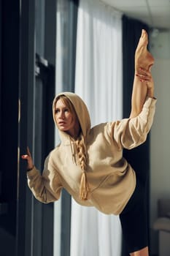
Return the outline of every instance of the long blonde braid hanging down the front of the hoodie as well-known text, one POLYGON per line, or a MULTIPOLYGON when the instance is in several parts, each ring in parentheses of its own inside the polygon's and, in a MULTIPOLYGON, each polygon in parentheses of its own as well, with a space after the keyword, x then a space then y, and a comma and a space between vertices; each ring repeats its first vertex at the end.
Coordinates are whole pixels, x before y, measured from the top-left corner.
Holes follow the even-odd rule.
POLYGON ((86 146, 85 138, 83 135, 80 135, 80 138, 76 141, 77 154, 79 158, 80 167, 82 169, 82 177, 80 181, 80 199, 88 200, 88 181, 86 177, 86 167, 87 167, 87 155, 86 155, 86 146))

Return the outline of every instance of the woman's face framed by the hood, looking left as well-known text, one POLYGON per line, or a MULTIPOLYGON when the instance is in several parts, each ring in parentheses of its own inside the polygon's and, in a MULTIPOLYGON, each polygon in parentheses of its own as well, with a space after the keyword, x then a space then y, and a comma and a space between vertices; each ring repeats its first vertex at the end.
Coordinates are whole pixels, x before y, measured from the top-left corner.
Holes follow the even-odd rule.
POLYGON ((55 121, 58 125, 58 129, 63 132, 67 132, 74 137, 77 133, 77 124, 80 129, 79 122, 74 113, 71 113, 69 108, 64 104, 62 99, 58 99, 55 105, 55 121))

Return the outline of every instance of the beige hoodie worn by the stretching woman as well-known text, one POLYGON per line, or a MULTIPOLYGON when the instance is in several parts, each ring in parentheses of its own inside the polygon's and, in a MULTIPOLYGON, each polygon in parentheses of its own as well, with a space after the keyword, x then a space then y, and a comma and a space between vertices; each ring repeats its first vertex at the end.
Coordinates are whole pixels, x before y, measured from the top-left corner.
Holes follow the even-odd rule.
POLYGON ((27 173, 28 186, 42 203, 58 200, 62 188, 65 188, 82 206, 95 206, 104 214, 120 214, 136 187, 135 172, 123 158, 123 148, 131 149, 144 143, 152 125, 156 99, 147 98, 142 112, 135 118, 124 118, 91 128, 88 109, 82 99, 71 92, 62 94, 74 105, 85 136, 89 199, 80 200, 82 170, 74 140, 66 132, 59 131, 61 143, 45 160, 42 175, 36 167, 27 173))

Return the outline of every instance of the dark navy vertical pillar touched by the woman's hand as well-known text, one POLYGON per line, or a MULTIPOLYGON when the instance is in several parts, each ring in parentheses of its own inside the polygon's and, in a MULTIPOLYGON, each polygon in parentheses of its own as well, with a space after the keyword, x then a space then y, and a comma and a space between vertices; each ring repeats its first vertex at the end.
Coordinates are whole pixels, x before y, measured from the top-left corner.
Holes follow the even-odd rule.
POLYGON ((34 0, 20 1, 20 65, 19 95, 20 120, 18 124, 18 195, 16 256, 32 252, 32 197, 26 185, 26 162, 20 159, 26 147, 32 151, 34 137, 34 0))

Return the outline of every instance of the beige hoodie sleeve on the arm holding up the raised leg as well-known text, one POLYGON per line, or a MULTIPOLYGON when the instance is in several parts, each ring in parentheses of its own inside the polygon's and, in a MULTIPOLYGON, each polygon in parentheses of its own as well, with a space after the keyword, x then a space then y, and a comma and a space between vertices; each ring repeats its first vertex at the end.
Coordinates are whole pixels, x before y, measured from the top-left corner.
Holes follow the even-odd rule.
POLYGON ((135 148, 147 139, 155 114, 155 102, 156 99, 148 97, 138 116, 112 122, 113 140, 120 150, 135 148))

